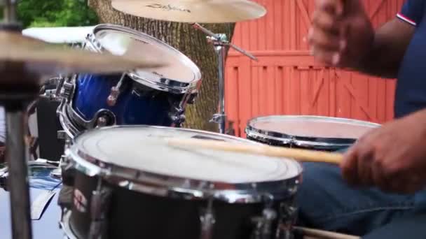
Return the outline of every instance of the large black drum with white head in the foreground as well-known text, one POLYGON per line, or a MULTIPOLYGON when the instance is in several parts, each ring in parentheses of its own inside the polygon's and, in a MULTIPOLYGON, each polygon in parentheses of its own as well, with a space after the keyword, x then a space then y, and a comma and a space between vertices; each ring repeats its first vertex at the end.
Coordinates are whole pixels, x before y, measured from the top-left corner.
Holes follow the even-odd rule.
POLYGON ((247 239, 289 233, 283 225, 294 221, 300 164, 170 147, 163 140, 170 137, 254 143, 159 126, 87 131, 67 150, 77 171, 74 205, 62 222, 67 236, 247 239))

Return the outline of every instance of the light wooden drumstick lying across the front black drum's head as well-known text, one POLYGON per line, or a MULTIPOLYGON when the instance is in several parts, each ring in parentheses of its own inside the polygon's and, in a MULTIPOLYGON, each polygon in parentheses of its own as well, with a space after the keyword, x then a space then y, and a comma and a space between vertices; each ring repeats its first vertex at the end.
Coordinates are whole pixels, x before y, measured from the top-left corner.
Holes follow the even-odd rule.
POLYGON ((217 140, 200 140, 195 138, 168 138, 168 145, 175 147, 202 147, 210 150, 261 154, 270 157, 287 157, 297 161, 322 162, 340 164, 343 154, 319 152, 315 150, 299 150, 269 145, 249 145, 244 143, 229 143, 217 140))

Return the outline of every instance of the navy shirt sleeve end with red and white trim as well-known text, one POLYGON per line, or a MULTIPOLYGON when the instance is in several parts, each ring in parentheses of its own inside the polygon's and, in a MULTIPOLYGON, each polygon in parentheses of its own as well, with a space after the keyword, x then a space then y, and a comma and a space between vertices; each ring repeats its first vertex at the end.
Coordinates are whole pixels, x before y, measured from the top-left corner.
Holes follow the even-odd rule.
POLYGON ((413 26, 420 24, 425 13, 425 0, 406 0, 397 17, 413 26))

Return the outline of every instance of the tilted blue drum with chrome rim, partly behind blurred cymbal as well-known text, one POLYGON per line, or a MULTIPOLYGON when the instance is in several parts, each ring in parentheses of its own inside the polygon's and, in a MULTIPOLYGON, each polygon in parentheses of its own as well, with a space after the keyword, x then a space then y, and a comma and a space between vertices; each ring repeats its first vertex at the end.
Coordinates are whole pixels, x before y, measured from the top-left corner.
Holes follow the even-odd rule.
POLYGON ((163 68, 121 74, 76 74, 60 82, 60 122, 68 135, 96 126, 146 124, 179 126, 186 103, 201 83, 199 68, 178 50, 139 31, 100 24, 88 34, 85 50, 158 58, 163 68))

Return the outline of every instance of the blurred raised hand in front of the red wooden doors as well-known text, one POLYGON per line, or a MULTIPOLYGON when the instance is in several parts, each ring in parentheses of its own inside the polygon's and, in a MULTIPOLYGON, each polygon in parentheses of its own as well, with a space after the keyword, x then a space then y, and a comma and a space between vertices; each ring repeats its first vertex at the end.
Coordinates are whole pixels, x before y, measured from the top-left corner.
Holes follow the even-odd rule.
POLYGON ((369 52, 373 38, 373 27, 362 1, 315 0, 308 42, 318 61, 356 67, 369 52))

